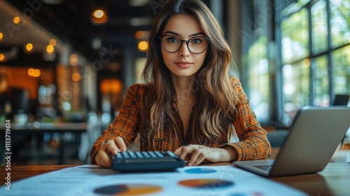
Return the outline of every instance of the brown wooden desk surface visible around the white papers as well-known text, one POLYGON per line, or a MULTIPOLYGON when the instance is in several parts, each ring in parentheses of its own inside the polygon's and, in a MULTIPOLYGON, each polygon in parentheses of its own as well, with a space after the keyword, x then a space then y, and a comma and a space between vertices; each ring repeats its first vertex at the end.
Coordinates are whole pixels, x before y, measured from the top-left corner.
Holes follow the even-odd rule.
MULTIPOLYGON (((232 163, 221 162, 206 165, 232 165, 232 163)), ((74 166, 78 165, 11 166, 11 183, 30 176, 74 166)), ((0 166, 1 185, 5 183, 5 168, 5 166, 0 166)), ((350 164, 346 162, 330 162, 328 166, 318 174, 306 174, 269 179, 283 183, 286 186, 302 190, 309 195, 350 195, 350 164)))

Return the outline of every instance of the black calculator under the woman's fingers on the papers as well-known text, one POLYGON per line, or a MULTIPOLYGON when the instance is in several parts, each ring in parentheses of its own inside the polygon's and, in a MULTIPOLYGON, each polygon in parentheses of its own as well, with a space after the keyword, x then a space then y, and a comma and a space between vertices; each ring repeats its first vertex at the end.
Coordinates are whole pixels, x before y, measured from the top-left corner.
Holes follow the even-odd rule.
POLYGON ((186 162, 172 151, 121 152, 112 155, 111 168, 118 172, 171 171, 186 162))

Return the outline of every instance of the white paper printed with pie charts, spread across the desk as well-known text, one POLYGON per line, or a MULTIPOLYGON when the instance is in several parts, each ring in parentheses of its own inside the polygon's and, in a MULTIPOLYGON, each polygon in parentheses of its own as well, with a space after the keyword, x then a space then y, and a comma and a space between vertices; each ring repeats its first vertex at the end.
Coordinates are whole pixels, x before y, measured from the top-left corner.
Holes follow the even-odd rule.
POLYGON ((2 196, 307 195, 233 166, 183 167, 176 172, 119 173, 96 165, 57 170, 0 186, 2 196))

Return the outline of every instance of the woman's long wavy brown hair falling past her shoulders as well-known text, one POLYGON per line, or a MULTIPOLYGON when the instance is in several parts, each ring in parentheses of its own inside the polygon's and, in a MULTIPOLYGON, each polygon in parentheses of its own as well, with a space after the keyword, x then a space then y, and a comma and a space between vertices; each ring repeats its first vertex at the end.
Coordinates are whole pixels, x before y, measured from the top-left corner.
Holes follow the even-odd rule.
POLYGON ((176 113, 172 105, 175 92, 169 69, 162 59, 159 38, 169 18, 179 14, 193 16, 204 34, 210 38, 204 64, 193 76, 196 109, 192 123, 195 123, 195 130, 188 127, 188 132, 193 132, 194 136, 188 138, 188 144, 210 146, 218 144, 223 135, 229 140, 231 134, 235 134, 231 124, 237 94, 230 84, 232 53, 224 38, 223 29, 202 1, 171 0, 160 10, 153 23, 148 39, 146 66, 142 73, 144 82, 149 86, 142 121, 148 124, 148 145, 153 148, 157 146, 155 139, 160 136, 160 132, 169 131, 172 141, 181 137, 178 130, 183 129, 176 124, 176 113))

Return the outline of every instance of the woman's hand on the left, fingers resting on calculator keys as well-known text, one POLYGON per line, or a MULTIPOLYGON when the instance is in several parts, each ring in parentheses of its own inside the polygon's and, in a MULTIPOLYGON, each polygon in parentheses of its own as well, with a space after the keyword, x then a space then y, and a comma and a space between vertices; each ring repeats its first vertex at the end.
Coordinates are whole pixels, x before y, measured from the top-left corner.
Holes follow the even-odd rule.
POLYGON ((127 151, 127 146, 122 137, 117 137, 116 139, 107 139, 102 144, 99 152, 97 153, 94 161, 99 167, 111 167, 112 159, 111 155, 116 155, 117 153, 127 151))

